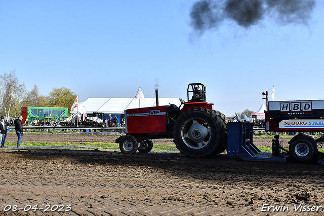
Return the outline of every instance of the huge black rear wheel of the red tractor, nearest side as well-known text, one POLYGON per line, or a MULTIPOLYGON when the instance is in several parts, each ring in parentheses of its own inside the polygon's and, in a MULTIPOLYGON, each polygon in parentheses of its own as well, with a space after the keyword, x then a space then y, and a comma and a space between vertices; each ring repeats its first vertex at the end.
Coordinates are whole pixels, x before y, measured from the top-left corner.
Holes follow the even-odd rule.
POLYGON ((174 126, 174 143, 187 157, 202 158, 223 152, 224 125, 203 107, 193 107, 179 116, 174 126))

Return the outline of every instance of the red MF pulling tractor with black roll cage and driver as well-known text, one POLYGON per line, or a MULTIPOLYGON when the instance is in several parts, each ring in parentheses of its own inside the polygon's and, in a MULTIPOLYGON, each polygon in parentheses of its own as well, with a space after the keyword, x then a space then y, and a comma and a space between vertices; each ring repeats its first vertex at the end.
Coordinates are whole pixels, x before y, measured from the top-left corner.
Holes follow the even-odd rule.
POLYGON ((177 149, 188 157, 201 158, 227 148, 227 117, 206 101, 206 87, 191 83, 187 102, 125 111, 126 134, 116 139, 124 154, 148 153, 151 139, 173 138, 177 149), (181 108, 182 106, 182 108, 181 108))

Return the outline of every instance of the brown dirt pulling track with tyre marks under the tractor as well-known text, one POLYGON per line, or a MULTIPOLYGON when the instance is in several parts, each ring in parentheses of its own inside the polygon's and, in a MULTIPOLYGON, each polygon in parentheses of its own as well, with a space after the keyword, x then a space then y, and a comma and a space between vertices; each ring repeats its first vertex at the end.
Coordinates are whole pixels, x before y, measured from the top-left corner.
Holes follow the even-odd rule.
MULTIPOLYGON (((113 142, 109 140, 115 137, 25 134, 23 141, 113 142)), ((7 141, 11 139, 16 141, 15 134, 8 135, 7 141)), ((271 145, 255 138, 259 142, 271 145)), ((2 215, 31 214, 33 211, 4 208, 17 205, 26 209, 36 204, 37 214, 43 214, 44 209, 39 208, 46 205, 52 209, 62 205, 62 210, 71 205, 70 211, 45 212, 57 215, 324 214, 324 167, 313 164, 244 162, 225 156, 191 159, 177 153, 129 156, 119 151, 6 148, 0 151, 0 164, 2 215), (302 203, 321 207, 317 212, 296 211, 294 205, 302 203), (285 211, 261 211, 263 205, 282 206, 285 211)))

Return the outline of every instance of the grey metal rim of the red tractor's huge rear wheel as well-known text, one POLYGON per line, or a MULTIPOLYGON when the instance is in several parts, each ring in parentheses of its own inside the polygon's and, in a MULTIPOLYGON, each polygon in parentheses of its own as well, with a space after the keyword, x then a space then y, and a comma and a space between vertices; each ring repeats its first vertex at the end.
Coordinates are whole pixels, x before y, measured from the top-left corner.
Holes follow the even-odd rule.
POLYGON ((181 137, 186 146, 192 149, 204 148, 211 139, 211 127, 200 118, 187 120, 181 128, 181 137))

